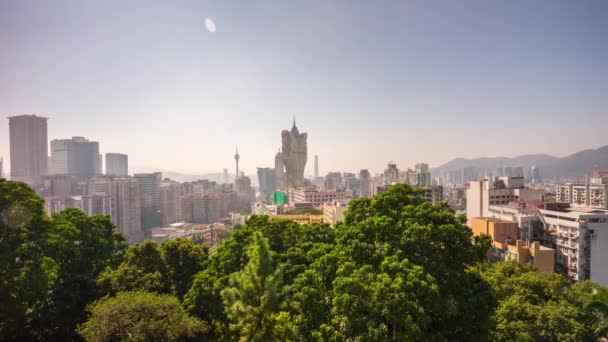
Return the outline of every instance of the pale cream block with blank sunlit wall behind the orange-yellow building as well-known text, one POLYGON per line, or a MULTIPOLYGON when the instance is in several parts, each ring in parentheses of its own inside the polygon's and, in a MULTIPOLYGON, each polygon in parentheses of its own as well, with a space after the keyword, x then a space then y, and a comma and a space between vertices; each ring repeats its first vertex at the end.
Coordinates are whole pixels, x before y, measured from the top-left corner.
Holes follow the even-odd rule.
POLYGON ((517 201, 541 201, 544 190, 528 189, 523 177, 498 177, 469 182, 467 189, 467 222, 473 217, 488 217, 490 205, 517 201))

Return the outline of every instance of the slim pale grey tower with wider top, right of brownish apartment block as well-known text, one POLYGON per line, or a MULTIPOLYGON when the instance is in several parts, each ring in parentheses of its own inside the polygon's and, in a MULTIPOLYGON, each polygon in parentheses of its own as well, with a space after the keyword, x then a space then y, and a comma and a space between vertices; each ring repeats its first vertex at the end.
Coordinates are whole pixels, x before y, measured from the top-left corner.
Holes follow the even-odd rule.
POLYGON ((139 184, 142 229, 161 225, 160 215, 160 181, 162 173, 136 173, 133 177, 139 184))

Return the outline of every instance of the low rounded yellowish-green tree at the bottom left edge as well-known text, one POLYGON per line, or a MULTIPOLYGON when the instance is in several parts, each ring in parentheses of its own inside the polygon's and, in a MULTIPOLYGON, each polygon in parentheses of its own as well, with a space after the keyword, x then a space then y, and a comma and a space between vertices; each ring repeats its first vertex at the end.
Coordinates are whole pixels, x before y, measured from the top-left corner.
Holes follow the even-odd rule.
POLYGON ((206 330, 171 295, 121 292, 91 304, 89 312, 88 321, 78 328, 87 341, 196 340, 206 330))

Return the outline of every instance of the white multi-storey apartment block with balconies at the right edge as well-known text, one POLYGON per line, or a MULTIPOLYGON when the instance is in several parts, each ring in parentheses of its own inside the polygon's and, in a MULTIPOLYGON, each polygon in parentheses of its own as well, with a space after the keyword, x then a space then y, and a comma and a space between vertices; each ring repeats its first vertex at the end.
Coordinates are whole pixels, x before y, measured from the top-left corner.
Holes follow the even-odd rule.
POLYGON ((608 285, 608 211, 527 201, 490 205, 488 216, 516 222, 522 240, 555 249, 556 272, 608 285))

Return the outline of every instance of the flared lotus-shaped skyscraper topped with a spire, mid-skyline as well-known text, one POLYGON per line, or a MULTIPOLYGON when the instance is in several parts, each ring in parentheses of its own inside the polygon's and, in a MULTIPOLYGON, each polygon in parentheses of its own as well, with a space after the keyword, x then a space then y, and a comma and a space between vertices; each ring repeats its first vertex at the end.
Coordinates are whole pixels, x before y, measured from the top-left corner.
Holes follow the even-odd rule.
POLYGON ((296 127, 296 120, 293 120, 291 130, 283 130, 282 138, 282 157, 286 171, 286 183, 288 187, 298 187, 304 185, 304 167, 308 157, 308 147, 306 143, 308 135, 300 133, 296 127))

